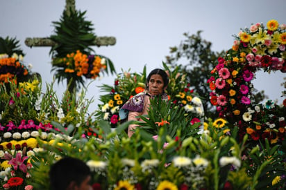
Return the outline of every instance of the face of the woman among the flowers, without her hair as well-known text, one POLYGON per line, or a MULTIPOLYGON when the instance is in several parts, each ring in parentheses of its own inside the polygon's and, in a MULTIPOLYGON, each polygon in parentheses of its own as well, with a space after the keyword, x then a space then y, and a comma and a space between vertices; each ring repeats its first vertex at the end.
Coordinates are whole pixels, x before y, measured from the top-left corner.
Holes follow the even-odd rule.
POLYGON ((154 74, 150 77, 150 80, 148 82, 148 91, 151 95, 160 95, 163 93, 165 88, 164 88, 164 81, 161 77, 161 75, 154 74))

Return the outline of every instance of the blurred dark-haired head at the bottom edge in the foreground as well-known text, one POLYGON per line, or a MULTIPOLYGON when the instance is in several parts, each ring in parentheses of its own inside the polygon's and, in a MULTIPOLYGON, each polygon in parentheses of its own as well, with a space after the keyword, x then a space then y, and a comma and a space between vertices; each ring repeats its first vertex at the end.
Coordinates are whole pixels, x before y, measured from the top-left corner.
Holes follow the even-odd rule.
POLYGON ((49 171, 53 190, 90 190, 90 168, 77 158, 62 158, 49 171))

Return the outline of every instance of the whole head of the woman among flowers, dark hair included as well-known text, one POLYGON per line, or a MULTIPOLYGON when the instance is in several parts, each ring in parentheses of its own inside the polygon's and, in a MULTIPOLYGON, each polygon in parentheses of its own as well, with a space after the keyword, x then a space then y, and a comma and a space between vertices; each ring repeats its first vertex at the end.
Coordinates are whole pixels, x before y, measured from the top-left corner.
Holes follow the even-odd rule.
POLYGON ((160 95, 164 93, 168 84, 169 77, 167 73, 160 68, 152 70, 146 79, 146 89, 151 95, 160 95))

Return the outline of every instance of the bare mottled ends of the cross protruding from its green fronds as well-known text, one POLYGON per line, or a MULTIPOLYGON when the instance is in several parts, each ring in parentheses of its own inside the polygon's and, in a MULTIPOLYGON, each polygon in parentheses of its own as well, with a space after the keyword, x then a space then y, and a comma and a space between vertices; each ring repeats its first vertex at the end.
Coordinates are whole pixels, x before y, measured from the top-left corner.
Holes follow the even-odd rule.
MULTIPOLYGON (((70 10, 76 10, 75 0, 66 0, 65 10, 67 14, 70 14, 70 10)), ((100 46, 113 46, 116 43, 115 37, 96 37, 94 44, 98 47, 100 46)), ((49 37, 27 37, 25 39, 25 44, 28 47, 51 47, 55 46, 56 43, 49 39, 49 37)))

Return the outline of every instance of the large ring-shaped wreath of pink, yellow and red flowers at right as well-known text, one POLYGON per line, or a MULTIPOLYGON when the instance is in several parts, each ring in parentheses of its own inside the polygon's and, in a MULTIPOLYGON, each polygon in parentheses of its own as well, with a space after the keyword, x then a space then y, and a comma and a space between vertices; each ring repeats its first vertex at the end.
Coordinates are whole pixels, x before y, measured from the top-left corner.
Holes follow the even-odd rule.
POLYGON ((249 142, 267 138, 271 144, 285 139, 286 99, 283 105, 267 100, 255 104, 251 80, 255 72, 286 72, 286 25, 270 20, 244 28, 235 35, 233 47, 219 57, 208 84, 210 102, 217 106, 219 117, 239 126, 239 138, 248 133, 249 142))

